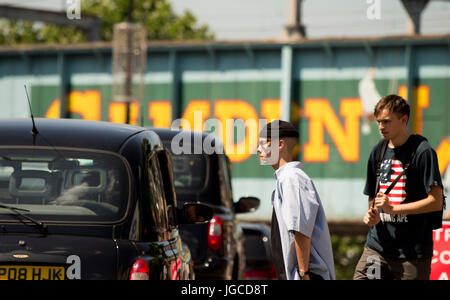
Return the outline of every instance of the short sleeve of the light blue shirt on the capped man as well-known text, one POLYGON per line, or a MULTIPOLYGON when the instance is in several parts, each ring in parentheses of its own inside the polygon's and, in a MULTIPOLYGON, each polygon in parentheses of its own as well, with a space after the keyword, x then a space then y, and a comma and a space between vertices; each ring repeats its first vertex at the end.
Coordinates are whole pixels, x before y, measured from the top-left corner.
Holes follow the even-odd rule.
POLYGON ((280 180, 283 202, 283 221, 289 231, 300 232, 311 238, 316 221, 319 202, 309 178, 285 176, 280 180))

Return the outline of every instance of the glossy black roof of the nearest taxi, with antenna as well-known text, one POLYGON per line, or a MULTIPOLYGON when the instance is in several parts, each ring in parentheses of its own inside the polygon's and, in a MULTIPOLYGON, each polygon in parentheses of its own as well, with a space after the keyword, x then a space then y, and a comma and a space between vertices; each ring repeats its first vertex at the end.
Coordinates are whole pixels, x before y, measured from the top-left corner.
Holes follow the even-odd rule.
POLYGON ((131 136, 145 128, 78 119, 0 119, 0 146, 73 147, 118 152, 131 136))

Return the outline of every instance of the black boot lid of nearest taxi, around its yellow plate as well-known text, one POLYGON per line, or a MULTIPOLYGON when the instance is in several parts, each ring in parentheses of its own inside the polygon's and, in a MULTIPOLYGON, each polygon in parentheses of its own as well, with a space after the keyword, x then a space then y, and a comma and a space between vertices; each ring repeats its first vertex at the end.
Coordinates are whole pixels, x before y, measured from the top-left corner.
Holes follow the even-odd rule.
POLYGON ((64 266, 66 279, 116 279, 117 251, 111 238, 0 234, 0 265, 64 266))

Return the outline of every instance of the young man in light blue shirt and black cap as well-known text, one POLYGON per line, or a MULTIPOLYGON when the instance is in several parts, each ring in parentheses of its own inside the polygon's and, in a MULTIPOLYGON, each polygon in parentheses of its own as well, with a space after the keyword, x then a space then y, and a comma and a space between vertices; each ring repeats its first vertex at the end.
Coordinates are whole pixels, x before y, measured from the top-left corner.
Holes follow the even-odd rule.
POLYGON ((275 170, 272 256, 279 279, 335 279, 330 233, 312 180, 294 161, 299 133, 275 120, 260 132, 258 158, 275 170))

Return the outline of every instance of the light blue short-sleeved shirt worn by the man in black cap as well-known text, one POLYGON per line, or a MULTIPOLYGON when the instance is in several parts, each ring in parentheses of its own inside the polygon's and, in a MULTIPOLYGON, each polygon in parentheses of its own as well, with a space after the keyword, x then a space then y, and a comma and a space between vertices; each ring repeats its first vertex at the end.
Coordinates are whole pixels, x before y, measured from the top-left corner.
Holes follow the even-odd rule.
POLYGON ((294 161, 275 171, 277 180, 272 204, 280 228, 286 278, 300 279, 294 231, 311 239, 309 270, 324 279, 335 279, 333 250, 325 212, 312 180, 294 161))

